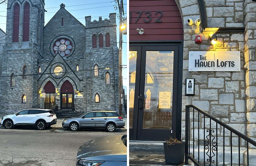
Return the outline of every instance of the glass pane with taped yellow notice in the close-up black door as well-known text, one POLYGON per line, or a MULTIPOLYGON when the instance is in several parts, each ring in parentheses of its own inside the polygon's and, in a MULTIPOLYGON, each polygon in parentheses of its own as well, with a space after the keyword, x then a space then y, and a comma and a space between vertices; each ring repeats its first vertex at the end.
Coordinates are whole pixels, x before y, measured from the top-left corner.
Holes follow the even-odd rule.
POLYGON ((173 55, 146 52, 143 128, 172 128, 173 55))

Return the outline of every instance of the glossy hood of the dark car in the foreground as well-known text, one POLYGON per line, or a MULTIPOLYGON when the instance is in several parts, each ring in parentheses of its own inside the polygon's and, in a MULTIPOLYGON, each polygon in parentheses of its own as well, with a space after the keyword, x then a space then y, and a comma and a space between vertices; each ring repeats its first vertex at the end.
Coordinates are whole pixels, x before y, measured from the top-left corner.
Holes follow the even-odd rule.
POLYGON ((94 161, 127 161, 127 147, 122 142, 123 135, 105 136, 90 140, 80 146, 78 159, 94 161))

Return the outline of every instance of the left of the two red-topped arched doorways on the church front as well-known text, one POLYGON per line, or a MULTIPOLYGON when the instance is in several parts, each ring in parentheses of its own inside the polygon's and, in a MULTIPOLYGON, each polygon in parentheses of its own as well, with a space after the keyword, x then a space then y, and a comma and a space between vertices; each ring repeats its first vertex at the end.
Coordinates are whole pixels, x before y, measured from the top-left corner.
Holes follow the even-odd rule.
POLYGON ((44 108, 54 109, 55 108, 55 87, 51 81, 48 81, 44 86, 44 108))

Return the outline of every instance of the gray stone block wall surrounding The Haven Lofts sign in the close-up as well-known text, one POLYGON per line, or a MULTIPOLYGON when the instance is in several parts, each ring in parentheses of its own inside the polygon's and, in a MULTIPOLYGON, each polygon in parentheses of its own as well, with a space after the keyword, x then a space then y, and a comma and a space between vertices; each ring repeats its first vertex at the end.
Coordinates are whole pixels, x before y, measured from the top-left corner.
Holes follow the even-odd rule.
MULTIPOLYGON (((184 23, 182 135, 185 135, 185 105, 193 104, 210 115, 256 140, 256 2, 252 0, 204 0, 207 27, 245 28, 244 32, 217 31, 217 45, 202 25, 188 26, 188 18, 202 18, 197 0, 176 0, 184 23), (202 35, 203 42, 194 42, 202 35), (189 51, 240 51, 240 72, 188 72, 189 51), (185 78, 195 78, 195 96, 185 96, 185 78)), ((197 116, 196 116, 197 119, 197 116)), ((199 119, 203 123, 202 117, 199 119)), ((202 127, 196 131, 203 134, 202 127), (201 132, 202 130, 202 132, 201 132)), ((215 126, 216 127, 216 126, 215 126)), ((219 128, 219 127, 218 127, 219 128)), ((219 128, 219 136, 223 129, 219 128)), ((196 134, 197 135, 197 134, 196 134)), ((225 138, 230 145, 229 136, 225 138)), ((236 142, 237 143, 237 142, 236 142)), ((234 145, 234 144, 233 144, 234 145)))

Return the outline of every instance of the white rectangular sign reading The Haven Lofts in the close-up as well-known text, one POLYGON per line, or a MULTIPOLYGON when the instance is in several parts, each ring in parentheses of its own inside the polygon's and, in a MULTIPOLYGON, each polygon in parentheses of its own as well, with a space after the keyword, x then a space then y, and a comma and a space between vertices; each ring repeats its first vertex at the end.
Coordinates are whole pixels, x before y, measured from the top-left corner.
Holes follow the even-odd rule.
POLYGON ((189 72, 240 72, 240 70, 240 51, 189 51, 189 72))

